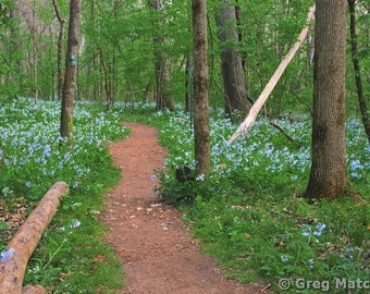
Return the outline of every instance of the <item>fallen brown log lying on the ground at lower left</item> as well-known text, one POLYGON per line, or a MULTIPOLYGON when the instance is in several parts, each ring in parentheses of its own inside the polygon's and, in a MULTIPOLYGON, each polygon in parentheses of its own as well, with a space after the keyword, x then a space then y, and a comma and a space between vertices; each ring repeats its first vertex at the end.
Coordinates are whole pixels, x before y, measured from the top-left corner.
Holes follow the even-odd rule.
POLYGON ((53 184, 1 253, 0 294, 47 293, 40 285, 22 290, 24 273, 44 230, 57 212, 61 196, 67 193, 69 187, 64 182, 53 184))

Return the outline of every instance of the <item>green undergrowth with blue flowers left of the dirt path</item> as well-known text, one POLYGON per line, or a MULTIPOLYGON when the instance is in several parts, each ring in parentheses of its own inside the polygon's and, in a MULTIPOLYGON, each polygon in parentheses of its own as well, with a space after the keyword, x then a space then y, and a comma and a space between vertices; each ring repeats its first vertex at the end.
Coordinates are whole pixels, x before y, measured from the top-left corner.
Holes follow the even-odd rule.
POLYGON ((77 102, 74 146, 59 147, 59 102, 0 101, 0 252, 26 216, 57 181, 70 194, 42 234, 25 272, 25 284, 49 293, 116 293, 124 273, 114 250, 103 242, 99 221, 104 195, 121 172, 108 152, 109 142, 128 134, 113 112, 77 102))

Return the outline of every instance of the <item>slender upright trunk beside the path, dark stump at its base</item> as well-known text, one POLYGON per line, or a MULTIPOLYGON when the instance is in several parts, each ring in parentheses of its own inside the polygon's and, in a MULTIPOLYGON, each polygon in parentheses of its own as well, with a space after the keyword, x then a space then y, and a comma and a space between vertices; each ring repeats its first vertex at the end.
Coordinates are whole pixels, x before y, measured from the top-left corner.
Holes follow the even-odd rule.
POLYGON ((195 160, 197 173, 207 174, 210 164, 207 0, 193 0, 193 41, 195 160))

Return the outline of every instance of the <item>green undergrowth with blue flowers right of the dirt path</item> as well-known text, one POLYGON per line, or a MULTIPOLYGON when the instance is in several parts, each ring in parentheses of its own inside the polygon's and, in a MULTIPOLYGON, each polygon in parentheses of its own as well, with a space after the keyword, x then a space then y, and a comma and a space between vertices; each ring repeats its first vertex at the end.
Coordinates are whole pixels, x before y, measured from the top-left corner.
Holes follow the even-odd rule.
POLYGON ((236 125, 212 111, 211 172, 180 183, 175 170, 195 168, 190 115, 141 111, 149 109, 144 122, 159 127, 170 151, 156 172, 157 193, 183 212, 227 277, 262 280, 278 293, 286 283, 284 293, 369 291, 370 147, 359 119, 347 120, 348 195, 309 204, 299 197, 310 167, 308 115, 274 121, 294 142, 259 119, 247 137, 227 145, 236 125))

